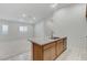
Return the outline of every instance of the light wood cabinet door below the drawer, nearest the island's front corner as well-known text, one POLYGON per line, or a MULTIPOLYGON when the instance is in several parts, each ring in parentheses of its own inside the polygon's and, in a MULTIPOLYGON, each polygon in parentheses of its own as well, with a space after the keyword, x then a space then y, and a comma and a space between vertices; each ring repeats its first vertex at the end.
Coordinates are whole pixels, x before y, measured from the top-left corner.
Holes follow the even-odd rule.
POLYGON ((55 55, 55 46, 50 47, 44 51, 44 61, 52 61, 56 57, 55 55))

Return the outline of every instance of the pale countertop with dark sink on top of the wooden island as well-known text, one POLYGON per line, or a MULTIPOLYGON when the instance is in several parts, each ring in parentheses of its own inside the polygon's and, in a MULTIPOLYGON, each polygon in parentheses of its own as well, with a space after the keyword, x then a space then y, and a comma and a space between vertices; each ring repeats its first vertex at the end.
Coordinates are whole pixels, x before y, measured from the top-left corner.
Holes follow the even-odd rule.
POLYGON ((51 43, 51 42, 54 42, 54 41, 57 41, 57 40, 61 40, 61 39, 63 39, 63 37, 58 37, 58 39, 32 37, 32 39, 29 39, 29 41, 36 43, 39 45, 44 45, 44 44, 47 44, 47 43, 51 43))

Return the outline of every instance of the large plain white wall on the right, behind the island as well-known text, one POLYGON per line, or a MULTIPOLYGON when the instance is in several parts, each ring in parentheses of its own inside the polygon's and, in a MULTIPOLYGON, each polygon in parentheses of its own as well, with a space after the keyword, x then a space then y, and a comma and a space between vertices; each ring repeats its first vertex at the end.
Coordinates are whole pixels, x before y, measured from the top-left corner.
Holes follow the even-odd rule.
POLYGON ((55 12, 54 35, 67 36, 68 45, 72 46, 80 43, 80 37, 87 35, 86 4, 75 4, 68 8, 63 8, 55 12))

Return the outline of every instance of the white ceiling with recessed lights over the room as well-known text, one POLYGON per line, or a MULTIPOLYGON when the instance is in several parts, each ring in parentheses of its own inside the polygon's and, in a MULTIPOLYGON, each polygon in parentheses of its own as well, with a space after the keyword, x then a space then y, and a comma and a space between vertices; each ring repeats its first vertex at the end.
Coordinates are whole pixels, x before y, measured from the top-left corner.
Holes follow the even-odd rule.
MULTIPOLYGON (((70 4, 70 3, 68 3, 70 4)), ((0 19, 35 23, 50 18, 67 3, 0 3, 0 19)))

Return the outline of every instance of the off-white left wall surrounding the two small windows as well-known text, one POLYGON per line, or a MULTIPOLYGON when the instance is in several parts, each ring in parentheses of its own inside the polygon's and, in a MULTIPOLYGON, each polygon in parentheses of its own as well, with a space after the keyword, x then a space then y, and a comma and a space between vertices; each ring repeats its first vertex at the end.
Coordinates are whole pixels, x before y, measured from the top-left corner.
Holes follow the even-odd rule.
POLYGON ((2 24, 9 25, 9 32, 8 34, 0 34, 0 59, 28 52, 30 47, 30 42, 28 42, 28 37, 32 36, 32 26, 14 21, 0 21, 0 26, 2 24), (19 31, 20 25, 28 26, 28 32, 21 34, 19 31))

